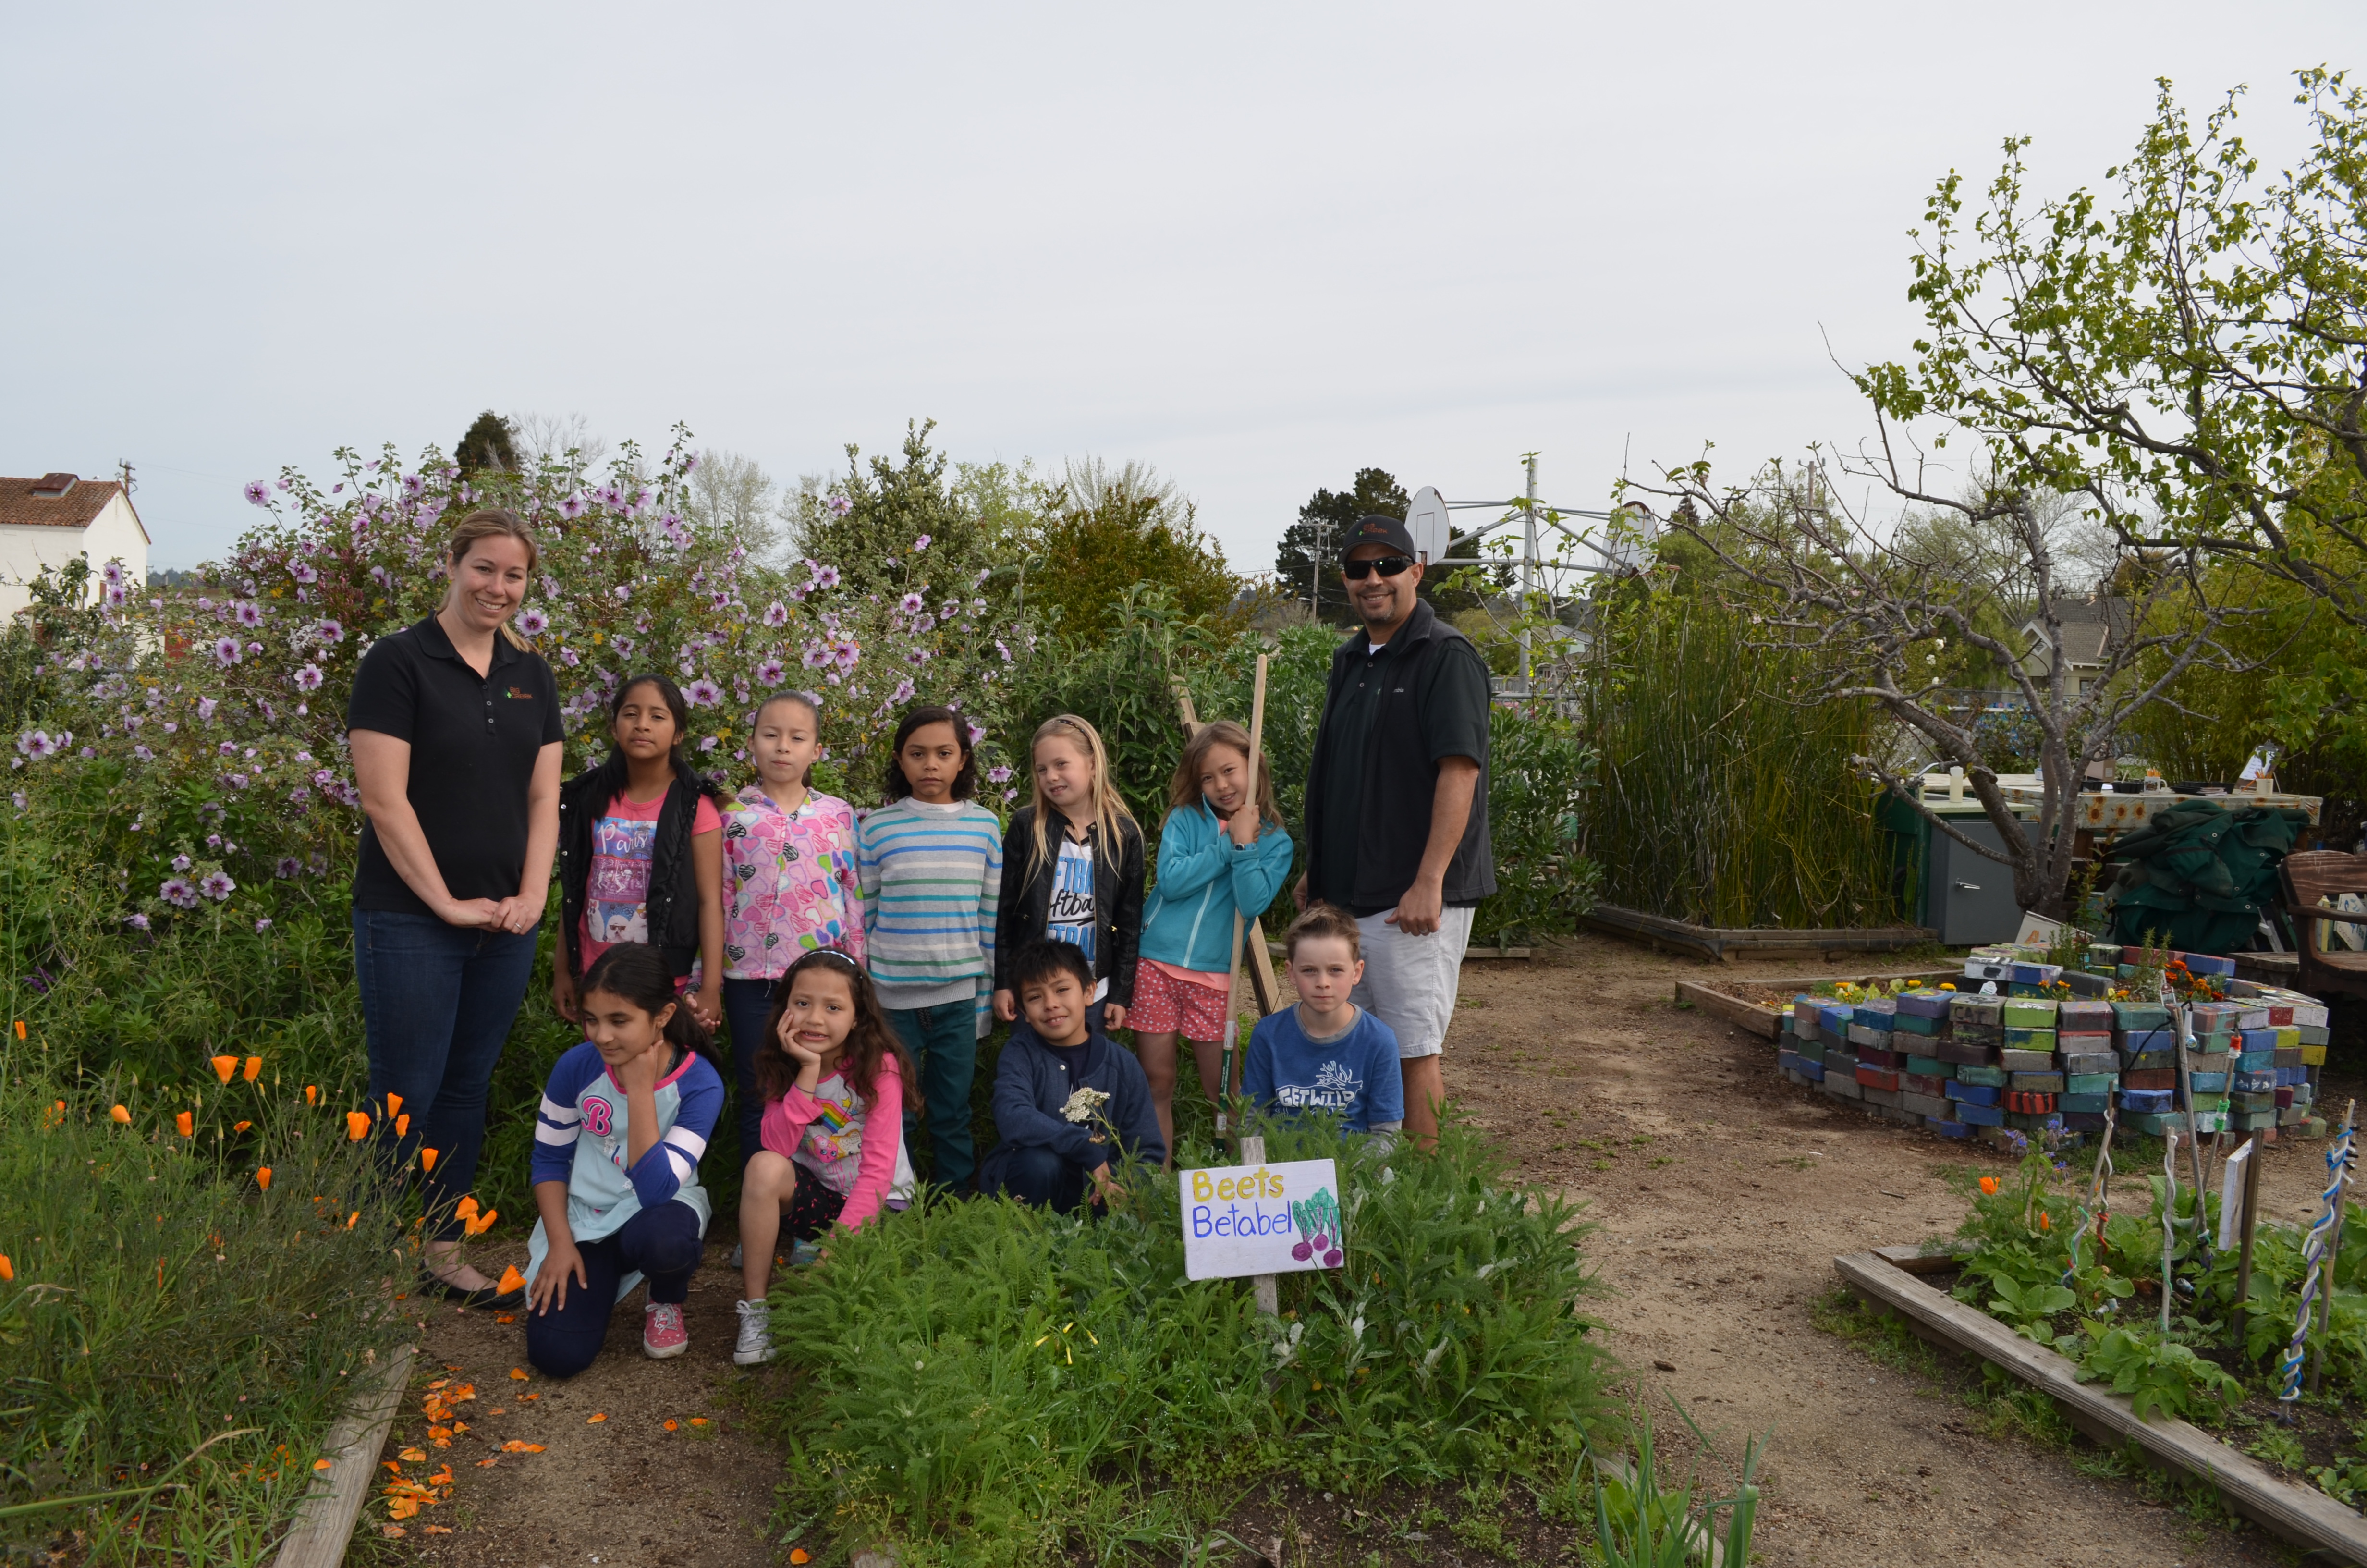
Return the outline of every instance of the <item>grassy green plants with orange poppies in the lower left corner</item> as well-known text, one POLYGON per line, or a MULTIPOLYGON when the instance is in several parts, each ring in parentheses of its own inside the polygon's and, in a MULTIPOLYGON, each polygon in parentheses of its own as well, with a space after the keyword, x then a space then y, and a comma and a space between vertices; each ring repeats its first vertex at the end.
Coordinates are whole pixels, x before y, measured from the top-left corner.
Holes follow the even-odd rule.
POLYGON ((0 1042, 0 1549, 263 1561, 412 1331, 402 1225, 275 1054, 159 1087, 43 1045, 0 1042))

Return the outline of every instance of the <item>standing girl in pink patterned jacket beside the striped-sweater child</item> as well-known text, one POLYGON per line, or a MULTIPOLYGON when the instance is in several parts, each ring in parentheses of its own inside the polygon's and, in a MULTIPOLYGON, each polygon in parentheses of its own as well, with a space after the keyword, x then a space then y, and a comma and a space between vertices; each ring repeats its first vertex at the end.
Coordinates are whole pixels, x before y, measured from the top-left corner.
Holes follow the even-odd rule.
POLYGON ((783 694, 755 711, 748 756, 757 782, 724 808, 724 1018, 739 1080, 741 1163, 757 1151, 765 1101, 755 1059, 769 1045, 774 981, 817 947, 864 962, 864 891, 854 872, 854 808, 805 786, 821 751, 814 699, 783 694))

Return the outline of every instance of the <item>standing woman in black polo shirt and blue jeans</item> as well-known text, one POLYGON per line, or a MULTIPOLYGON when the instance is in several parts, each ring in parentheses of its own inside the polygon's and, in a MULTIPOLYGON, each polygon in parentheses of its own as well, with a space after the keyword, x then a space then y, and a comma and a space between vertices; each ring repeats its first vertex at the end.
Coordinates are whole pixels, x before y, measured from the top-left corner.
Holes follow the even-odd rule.
POLYGON ((476 1182, 485 1090, 535 969, 559 843, 559 685, 509 618, 535 571, 535 535, 499 507, 452 531, 443 609, 381 637, 353 675, 346 737, 362 786, 353 872, 353 966, 369 1030, 369 1099, 400 1094, 409 1130, 379 1116, 381 1153, 424 1177, 443 1222, 426 1284, 471 1305, 514 1305, 457 1255, 450 1217, 476 1182))

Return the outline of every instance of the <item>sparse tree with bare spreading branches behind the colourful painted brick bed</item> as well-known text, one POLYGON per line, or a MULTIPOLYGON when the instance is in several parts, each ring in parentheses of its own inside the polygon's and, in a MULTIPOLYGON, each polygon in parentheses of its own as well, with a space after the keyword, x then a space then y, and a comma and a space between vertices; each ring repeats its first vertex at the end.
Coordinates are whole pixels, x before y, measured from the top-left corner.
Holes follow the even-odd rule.
POLYGON ((1815 654, 1825 675, 1799 701, 1872 699, 1965 770, 2002 855, 1924 808, 1920 779, 1896 763, 1856 758, 1931 831, 2002 860, 2024 910, 2064 914, 2081 779, 2114 753, 2130 715, 2180 706, 2171 692, 2192 668, 2251 668, 2220 647, 2220 628, 2251 611, 2213 599, 2201 545, 2123 550, 2104 573, 2109 632, 2102 647, 2078 647, 2066 625, 2097 618, 2088 609, 2097 578, 2064 559, 2062 521, 2024 493, 1917 495, 1931 514, 1884 531, 1851 512, 1818 467, 1771 467, 1744 488, 1714 488, 1707 462, 1662 478, 1631 488, 1673 502, 1669 526, 1716 557, 1718 587, 1756 611, 1771 647, 1815 654), (1981 547, 1967 550, 1967 538, 1981 547), (1962 654, 2002 675, 2040 734, 2036 822, 1998 784, 1995 739, 1976 713, 1943 701, 1941 663, 1962 654))

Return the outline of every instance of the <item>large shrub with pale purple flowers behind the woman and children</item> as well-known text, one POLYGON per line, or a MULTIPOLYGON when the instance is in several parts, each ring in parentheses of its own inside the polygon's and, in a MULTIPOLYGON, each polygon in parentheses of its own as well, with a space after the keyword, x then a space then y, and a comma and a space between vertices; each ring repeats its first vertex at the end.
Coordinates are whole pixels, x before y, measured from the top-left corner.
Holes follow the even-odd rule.
MULTIPOLYGON (((462 476, 433 448, 412 469, 393 448, 338 450, 327 488, 296 469, 249 483, 265 516, 192 587, 102 568, 95 630, 36 668, 57 696, 14 737, 17 808, 62 770, 92 775, 125 836, 123 919, 140 928, 206 907, 270 919, 272 883, 343 874, 360 829, 353 670, 443 602, 445 535, 476 505, 514 507, 542 547, 514 625, 559 675, 570 770, 606 753, 606 703, 644 670, 682 687, 689 744, 717 777, 776 692, 817 696, 819 782, 857 801, 873 798, 914 699, 978 713, 982 739, 1011 647, 1027 647, 987 625, 982 573, 907 571, 914 587, 883 597, 843 590, 828 561, 757 564, 686 521, 682 436, 656 464, 627 443, 599 483, 568 462, 462 476)), ((928 535, 904 550, 925 561, 928 535)))

